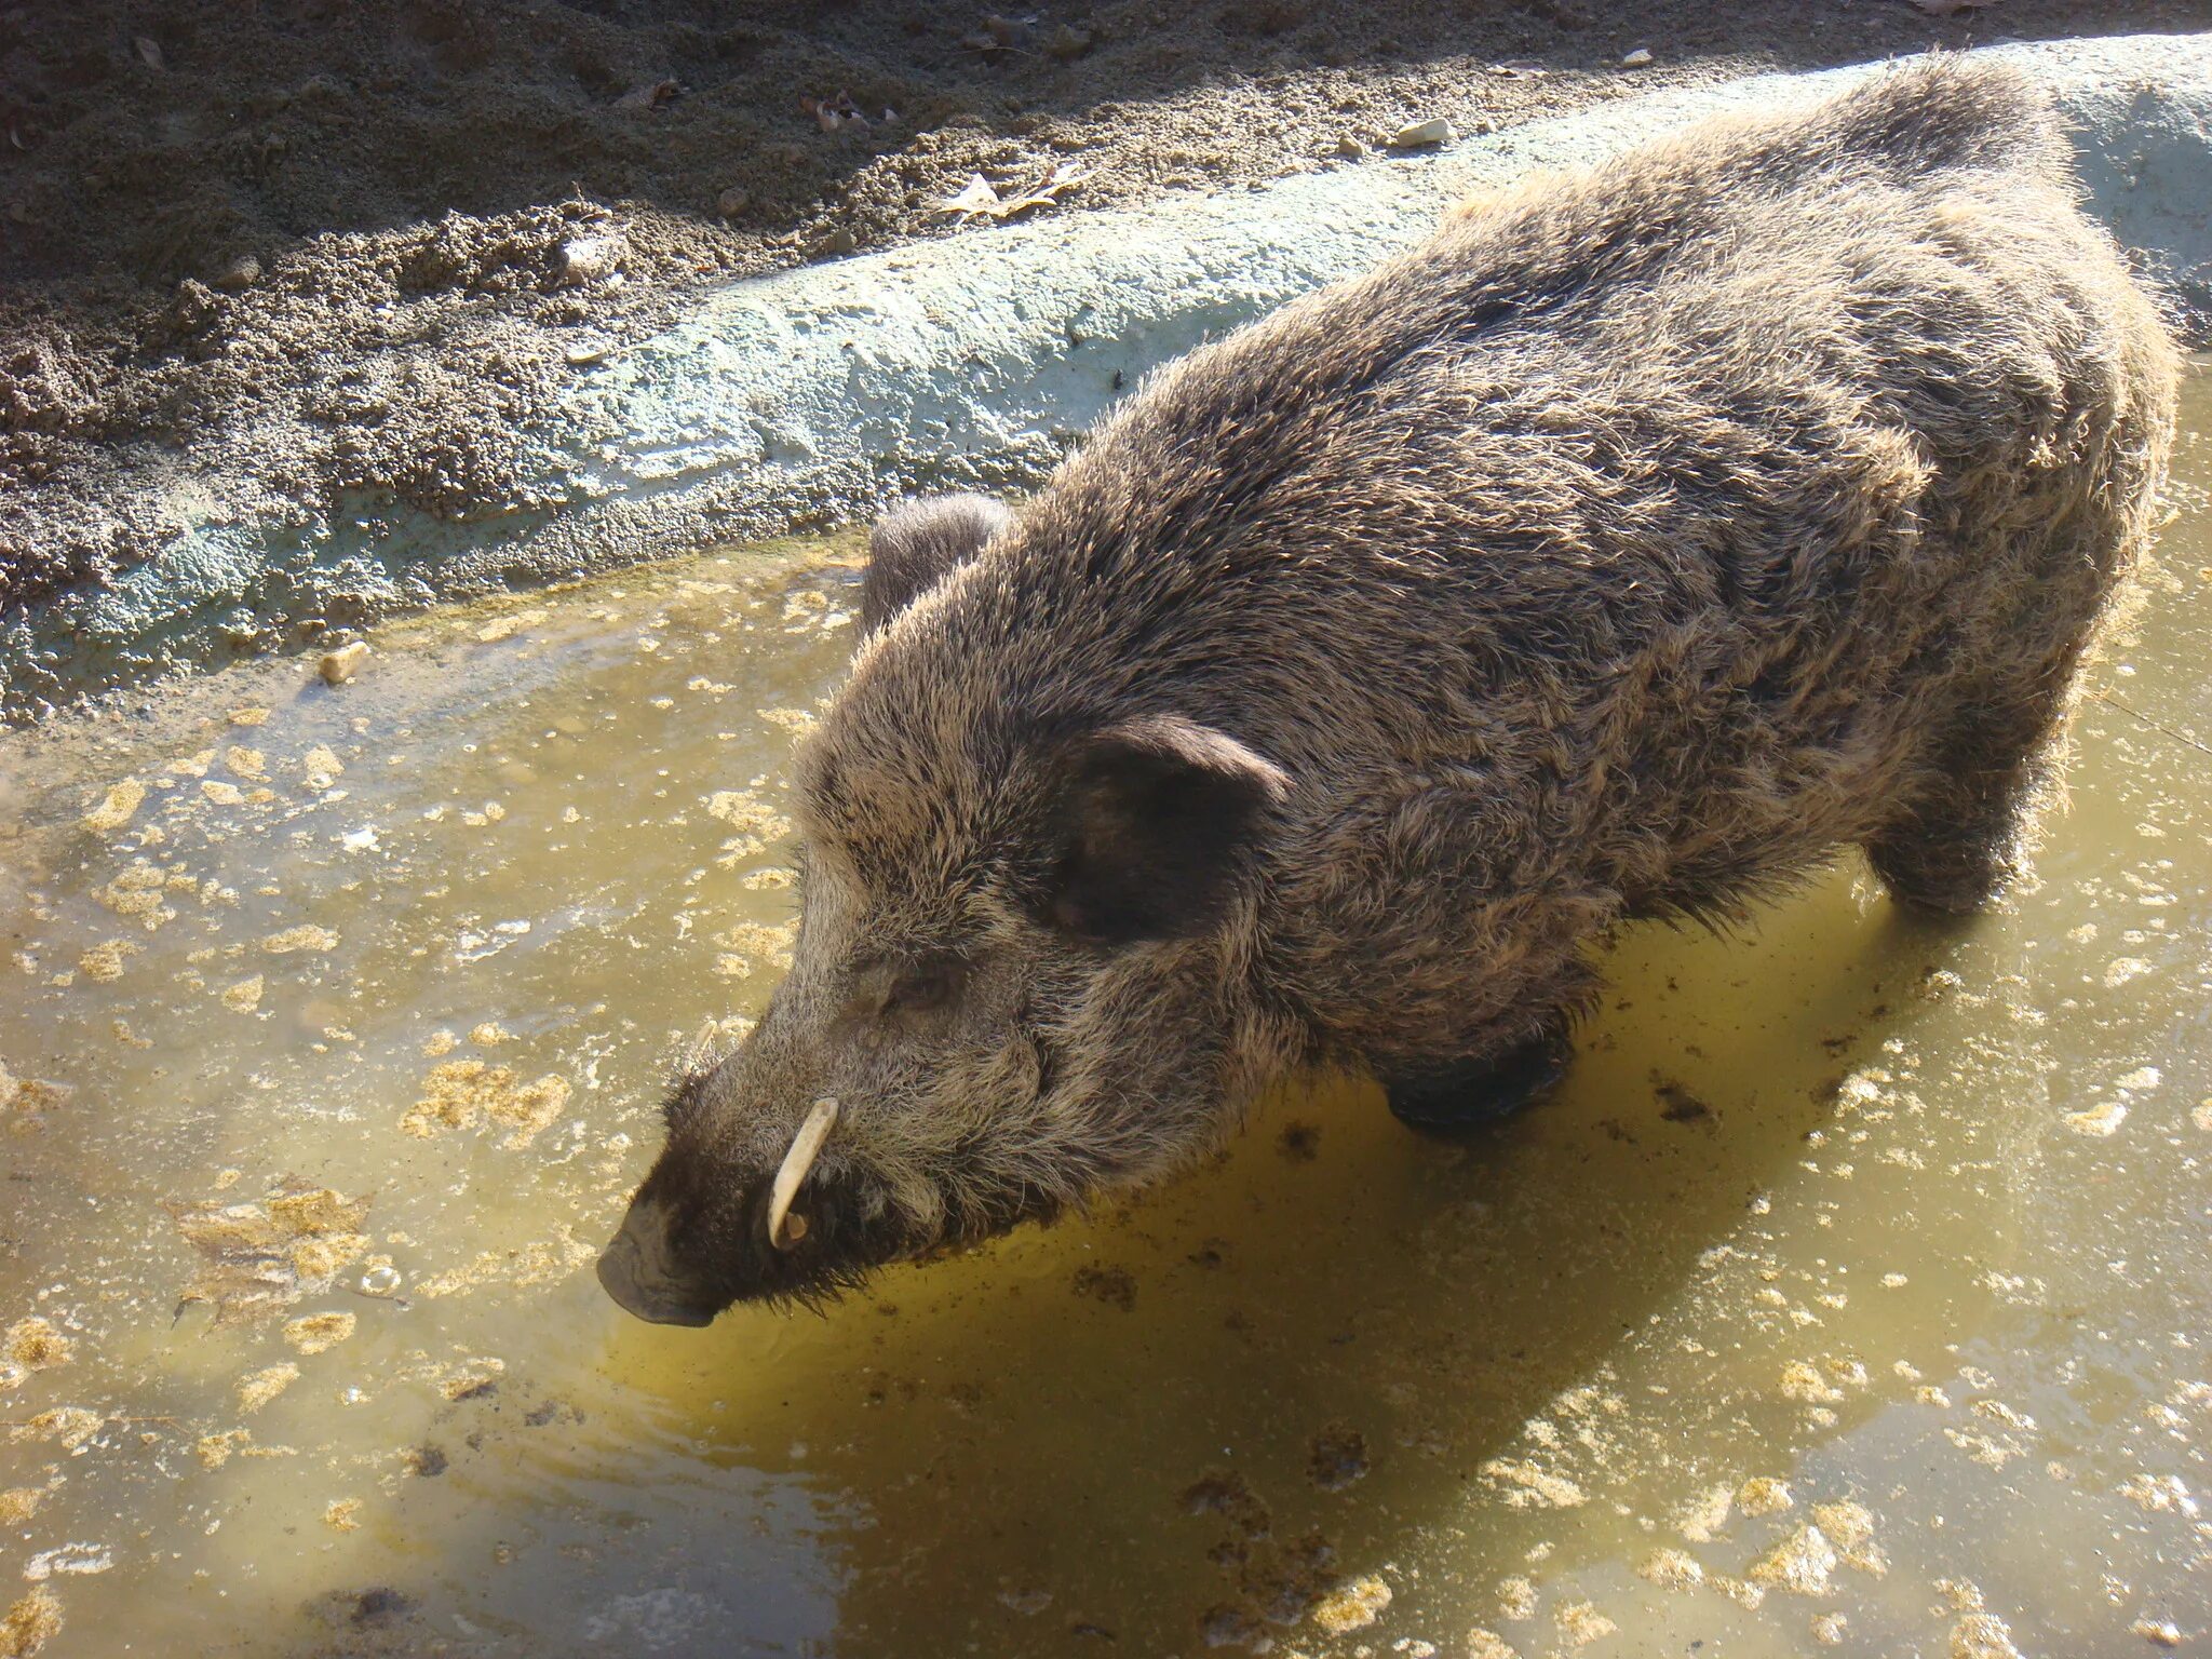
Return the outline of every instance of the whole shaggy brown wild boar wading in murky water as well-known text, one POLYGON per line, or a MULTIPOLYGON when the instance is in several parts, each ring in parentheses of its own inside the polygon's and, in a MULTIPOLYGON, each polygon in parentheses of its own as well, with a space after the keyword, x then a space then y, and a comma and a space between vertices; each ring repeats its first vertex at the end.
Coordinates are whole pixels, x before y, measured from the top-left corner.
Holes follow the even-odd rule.
POLYGON ((1192 352, 1011 522, 891 526, 794 757, 794 967, 675 1084, 602 1281, 823 1298, 1159 1181, 1296 1066, 1478 1124, 1559 1073, 1608 925, 1838 847, 1971 911, 2174 387, 2053 108, 1962 60, 1192 352))

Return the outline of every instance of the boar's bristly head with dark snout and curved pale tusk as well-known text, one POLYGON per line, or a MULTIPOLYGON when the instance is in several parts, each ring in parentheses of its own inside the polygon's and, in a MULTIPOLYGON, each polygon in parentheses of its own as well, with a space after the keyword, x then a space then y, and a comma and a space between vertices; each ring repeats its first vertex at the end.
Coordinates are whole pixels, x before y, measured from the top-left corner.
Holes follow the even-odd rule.
POLYGON ((792 971, 741 1046, 677 1079, 599 1263, 644 1318, 816 1303, 1159 1179, 1272 1068, 1250 984, 1287 779, 1170 708, 1051 672, 1009 695, 960 637, 960 588, 987 577, 958 571, 867 641, 794 757, 792 971), (772 1237, 779 1170, 794 1223, 772 1237))

